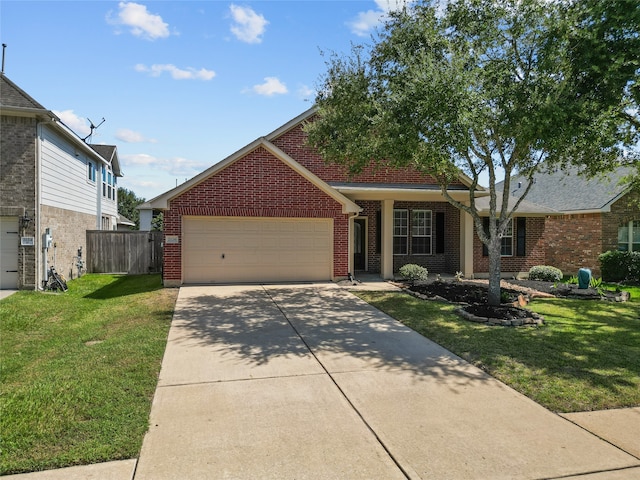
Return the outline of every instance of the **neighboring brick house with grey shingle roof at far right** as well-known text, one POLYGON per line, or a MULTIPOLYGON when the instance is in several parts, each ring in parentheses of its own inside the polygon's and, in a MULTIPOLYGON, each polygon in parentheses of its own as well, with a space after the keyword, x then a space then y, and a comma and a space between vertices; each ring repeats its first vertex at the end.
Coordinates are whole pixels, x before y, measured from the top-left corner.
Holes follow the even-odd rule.
MULTIPOLYGON (((630 171, 619 168, 605 176, 586 178, 576 169, 543 172, 534 178, 527 201, 555 210, 539 226, 540 264, 575 275, 589 268, 600 275, 598 256, 610 250, 640 251, 640 194, 621 180, 630 171)), ((524 191, 524 178, 512 194, 524 191)))

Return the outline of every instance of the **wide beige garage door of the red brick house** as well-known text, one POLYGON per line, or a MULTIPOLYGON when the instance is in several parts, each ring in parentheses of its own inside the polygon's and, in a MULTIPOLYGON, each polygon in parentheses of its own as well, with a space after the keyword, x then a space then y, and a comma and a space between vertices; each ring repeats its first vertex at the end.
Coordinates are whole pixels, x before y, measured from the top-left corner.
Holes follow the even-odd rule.
POLYGON ((330 280, 332 237, 331 219, 183 217, 183 280, 330 280))

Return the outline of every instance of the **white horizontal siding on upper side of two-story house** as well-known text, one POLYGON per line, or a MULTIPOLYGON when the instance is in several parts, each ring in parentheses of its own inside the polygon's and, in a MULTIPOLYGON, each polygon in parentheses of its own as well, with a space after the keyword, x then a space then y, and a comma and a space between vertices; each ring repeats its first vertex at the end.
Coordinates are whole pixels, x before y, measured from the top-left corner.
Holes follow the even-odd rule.
POLYGON ((89 157, 46 126, 42 129, 40 149, 42 204, 95 215, 98 208, 97 189, 102 189, 100 165, 96 165, 96 183, 90 182, 87 177, 89 157))

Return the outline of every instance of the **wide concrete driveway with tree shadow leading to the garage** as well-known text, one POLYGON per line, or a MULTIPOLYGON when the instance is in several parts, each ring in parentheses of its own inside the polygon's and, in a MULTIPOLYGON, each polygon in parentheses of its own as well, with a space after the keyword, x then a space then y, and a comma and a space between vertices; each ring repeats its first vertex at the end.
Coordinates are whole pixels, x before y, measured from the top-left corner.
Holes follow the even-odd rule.
POLYGON ((640 460, 333 284, 216 286, 180 290, 134 478, 625 478, 630 467, 640 460))

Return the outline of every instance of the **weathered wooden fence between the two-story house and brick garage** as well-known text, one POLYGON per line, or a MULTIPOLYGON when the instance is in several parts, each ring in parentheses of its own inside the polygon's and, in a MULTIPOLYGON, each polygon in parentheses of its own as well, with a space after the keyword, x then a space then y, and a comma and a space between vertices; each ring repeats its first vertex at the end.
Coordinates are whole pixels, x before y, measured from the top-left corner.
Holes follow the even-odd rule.
POLYGON ((160 273, 162 232, 87 231, 87 273, 160 273))

